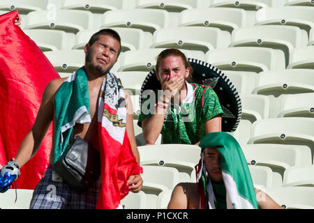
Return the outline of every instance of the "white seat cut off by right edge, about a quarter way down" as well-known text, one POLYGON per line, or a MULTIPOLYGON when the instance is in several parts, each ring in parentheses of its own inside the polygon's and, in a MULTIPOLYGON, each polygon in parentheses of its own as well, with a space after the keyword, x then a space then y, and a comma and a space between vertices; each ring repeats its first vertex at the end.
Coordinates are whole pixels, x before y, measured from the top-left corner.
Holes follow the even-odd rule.
POLYGON ((314 69, 314 46, 295 48, 287 69, 314 69))

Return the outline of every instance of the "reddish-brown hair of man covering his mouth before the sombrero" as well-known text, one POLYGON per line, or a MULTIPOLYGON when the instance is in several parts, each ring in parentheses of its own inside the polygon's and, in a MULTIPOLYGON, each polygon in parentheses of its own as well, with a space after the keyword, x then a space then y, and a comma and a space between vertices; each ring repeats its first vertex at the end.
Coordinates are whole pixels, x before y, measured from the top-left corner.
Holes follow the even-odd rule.
POLYGON ((167 58, 168 56, 180 56, 182 61, 184 61, 184 66, 185 68, 190 68, 190 72, 188 74, 188 78, 186 78, 187 82, 192 81, 192 74, 193 74, 193 68, 190 66, 190 61, 186 59, 186 55, 184 55, 183 52, 181 52, 179 49, 164 49, 160 54, 157 56, 157 61, 156 61, 156 74, 158 74, 158 69, 160 66, 160 61, 163 59, 167 58))

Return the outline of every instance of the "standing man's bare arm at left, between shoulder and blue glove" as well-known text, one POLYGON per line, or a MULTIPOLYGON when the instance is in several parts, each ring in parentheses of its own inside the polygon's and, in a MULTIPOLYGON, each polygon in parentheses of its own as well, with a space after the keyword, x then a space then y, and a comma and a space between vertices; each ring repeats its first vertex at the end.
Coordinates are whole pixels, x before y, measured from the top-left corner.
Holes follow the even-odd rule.
POLYGON ((63 80, 64 79, 61 78, 54 79, 45 87, 36 120, 33 123, 33 127, 20 144, 15 157, 19 167, 22 167, 38 151, 38 148, 43 141, 50 124, 52 123, 54 114, 54 94, 59 89, 63 80))

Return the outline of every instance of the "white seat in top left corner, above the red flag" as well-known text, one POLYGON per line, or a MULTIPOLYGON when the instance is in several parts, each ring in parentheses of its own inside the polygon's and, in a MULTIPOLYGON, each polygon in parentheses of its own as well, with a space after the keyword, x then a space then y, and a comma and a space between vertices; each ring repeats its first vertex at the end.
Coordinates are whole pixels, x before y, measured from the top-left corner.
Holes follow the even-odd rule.
POLYGON ((45 10, 48 0, 10 0, 1 1, 0 10, 18 10, 20 14, 27 14, 31 11, 45 10))

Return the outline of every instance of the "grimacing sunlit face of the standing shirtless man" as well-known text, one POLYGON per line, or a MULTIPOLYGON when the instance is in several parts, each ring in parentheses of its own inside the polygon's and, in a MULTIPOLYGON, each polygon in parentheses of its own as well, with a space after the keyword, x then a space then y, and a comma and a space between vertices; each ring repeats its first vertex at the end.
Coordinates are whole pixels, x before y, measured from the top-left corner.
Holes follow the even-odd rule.
POLYGON ((85 66, 101 75, 107 72, 117 62, 119 53, 119 41, 108 35, 100 35, 92 45, 84 48, 86 54, 85 66))

